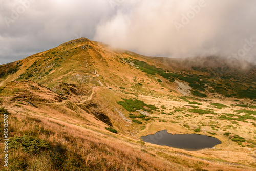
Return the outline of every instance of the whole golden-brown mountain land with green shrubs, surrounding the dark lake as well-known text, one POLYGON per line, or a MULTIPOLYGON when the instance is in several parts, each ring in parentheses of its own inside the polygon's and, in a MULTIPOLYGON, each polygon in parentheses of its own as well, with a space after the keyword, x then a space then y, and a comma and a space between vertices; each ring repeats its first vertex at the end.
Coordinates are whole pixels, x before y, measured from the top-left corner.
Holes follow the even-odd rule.
POLYGON ((9 169, 254 170, 255 71, 245 61, 148 57, 87 38, 1 65, 9 169), (199 129, 222 144, 185 151, 140 139, 165 129, 199 129))

